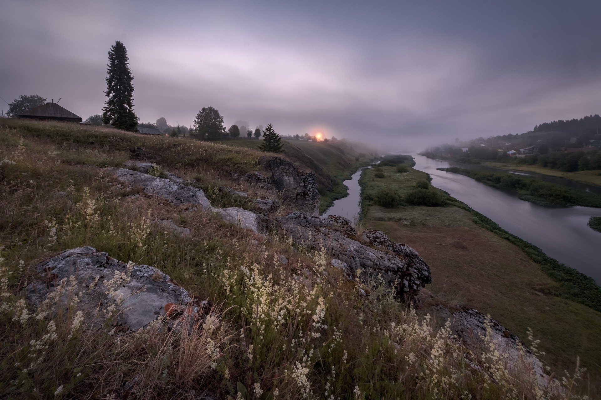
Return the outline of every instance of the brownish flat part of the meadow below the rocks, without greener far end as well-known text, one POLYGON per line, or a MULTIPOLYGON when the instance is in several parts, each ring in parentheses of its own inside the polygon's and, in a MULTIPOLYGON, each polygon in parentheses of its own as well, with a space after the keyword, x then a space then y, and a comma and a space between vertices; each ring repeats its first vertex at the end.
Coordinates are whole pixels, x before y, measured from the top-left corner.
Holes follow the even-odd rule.
POLYGON ((421 294, 424 303, 478 309, 522 338, 531 327, 542 339, 543 358, 555 371, 569 369, 580 356, 599 385, 601 314, 545 296, 543 289, 555 283, 511 243, 475 225, 448 228, 371 221, 368 226, 412 246, 430 265, 432 284, 421 294), (454 240, 467 249, 452 246, 454 240))

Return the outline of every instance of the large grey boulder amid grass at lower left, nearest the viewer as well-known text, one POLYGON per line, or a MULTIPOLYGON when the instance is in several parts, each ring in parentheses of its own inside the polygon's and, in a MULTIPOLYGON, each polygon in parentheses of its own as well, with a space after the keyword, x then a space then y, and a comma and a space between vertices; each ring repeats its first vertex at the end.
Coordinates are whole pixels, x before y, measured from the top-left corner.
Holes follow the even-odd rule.
POLYGON ((165 305, 192 303, 188 291, 160 270, 123 263, 89 246, 64 251, 34 269, 40 280, 26 287, 32 305, 61 290, 61 302, 78 297, 76 307, 98 323, 110 315, 115 324, 138 330, 164 315, 165 305))

